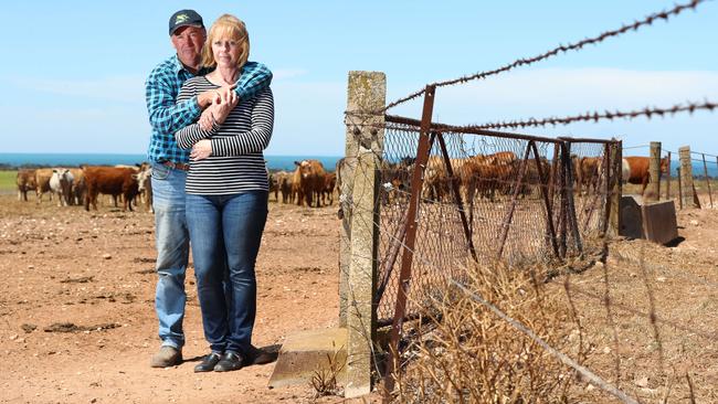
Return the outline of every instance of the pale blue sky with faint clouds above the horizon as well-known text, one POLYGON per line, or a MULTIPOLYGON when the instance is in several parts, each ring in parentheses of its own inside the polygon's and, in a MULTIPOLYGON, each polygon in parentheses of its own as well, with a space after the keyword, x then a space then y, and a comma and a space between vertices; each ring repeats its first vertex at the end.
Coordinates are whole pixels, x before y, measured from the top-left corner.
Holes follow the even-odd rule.
MULTIPOLYGON (((685 1, 685 0, 684 0, 685 1)), ((674 6, 671 1, 12 1, 0 33, 0 152, 144 153, 144 82, 172 54, 169 15, 244 20, 251 60, 275 73, 267 153, 344 152, 347 73, 387 74, 388 100, 496 68, 674 6)), ((606 108, 718 100, 718 2, 666 22, 469 85, 439 88, 434 117, 454 125, 606 108)), ((418 118, 421 100, 390 110, 418 118)), ((718 111, 526 129, 620 137, 624 146, 718 153, 718 111)))

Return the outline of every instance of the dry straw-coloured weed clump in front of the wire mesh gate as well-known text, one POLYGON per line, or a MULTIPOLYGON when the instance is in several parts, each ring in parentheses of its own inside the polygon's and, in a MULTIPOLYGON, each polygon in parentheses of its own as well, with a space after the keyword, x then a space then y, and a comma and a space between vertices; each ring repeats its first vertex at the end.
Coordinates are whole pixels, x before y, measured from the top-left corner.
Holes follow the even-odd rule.
MULTIPOLYGON (((569 352, 569 308, 542 293, 530 268, 501 264, 469 269, 461 281, 532 330, 549 345, 569 352)), ((569 402, 576 380, 535 341, 456 286, 432 294, 432 321, 419 322, 395 374, 395 398, 404 403, 569 402)), ((426 302, 426 301, 424 301, 426 302)))

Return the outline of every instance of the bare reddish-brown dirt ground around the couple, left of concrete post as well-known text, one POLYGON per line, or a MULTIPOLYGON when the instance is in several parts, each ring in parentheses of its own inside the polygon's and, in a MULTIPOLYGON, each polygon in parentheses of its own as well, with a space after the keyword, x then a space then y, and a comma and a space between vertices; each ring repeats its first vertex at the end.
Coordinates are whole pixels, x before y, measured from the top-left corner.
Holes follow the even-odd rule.
MULTIPOLYGON (((336 326, 336 210, 270 204, 256 268, 256 345, 336 326)), ((191 269, 186 362, 151 369, 159 348, 155 257, 152 214, 144 210, 123 213, 105 202, 85 212, 0 195, 0 402, 312 401, 309 385, 268 389, 274 364, 192 372, 208 344, 191 269), (47 331, 65 322, 81 329, 47 331)))

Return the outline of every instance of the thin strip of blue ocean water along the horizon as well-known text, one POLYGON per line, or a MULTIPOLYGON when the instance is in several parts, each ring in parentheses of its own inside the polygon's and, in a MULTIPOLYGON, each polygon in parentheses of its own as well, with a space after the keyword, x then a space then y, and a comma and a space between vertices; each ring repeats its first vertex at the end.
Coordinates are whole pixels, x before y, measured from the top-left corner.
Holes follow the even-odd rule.
MULTIPOLYGON (((340 156, 264 156, 270 170, 294 170, 294 162, 304 159, 321 161, 325 169, 334 171, 340 156)), ((0 164, 20 167, 76 167, 80 164, 115 166, 136 164, 147 160, 145 155, 94 153, 0 153, 0 164)))

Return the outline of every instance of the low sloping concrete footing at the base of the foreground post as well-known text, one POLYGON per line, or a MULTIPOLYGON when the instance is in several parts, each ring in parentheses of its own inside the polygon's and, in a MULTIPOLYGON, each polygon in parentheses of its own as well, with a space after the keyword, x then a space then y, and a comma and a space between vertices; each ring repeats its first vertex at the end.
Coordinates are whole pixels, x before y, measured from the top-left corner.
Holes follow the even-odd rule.
POLYGON ((307 384, 317 370, 338 370, 337 383, 346 384, 347 329, 303 331, 287 337, 279 350, 277 363, 270 378, 271 387, 307 384))

